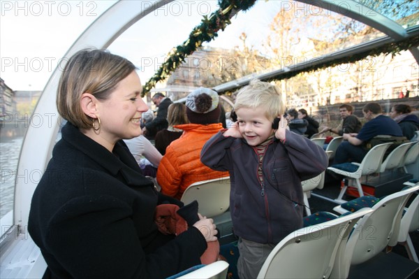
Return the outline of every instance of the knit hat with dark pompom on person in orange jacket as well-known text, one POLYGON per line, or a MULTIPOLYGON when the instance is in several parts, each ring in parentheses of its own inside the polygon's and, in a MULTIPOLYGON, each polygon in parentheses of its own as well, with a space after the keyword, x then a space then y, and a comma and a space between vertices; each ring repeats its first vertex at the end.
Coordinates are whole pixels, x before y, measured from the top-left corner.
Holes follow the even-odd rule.
POLYGON ((199 87, 186 97, 186 116, 195 124, 219 123, 219 95, 209 88, 199 87))

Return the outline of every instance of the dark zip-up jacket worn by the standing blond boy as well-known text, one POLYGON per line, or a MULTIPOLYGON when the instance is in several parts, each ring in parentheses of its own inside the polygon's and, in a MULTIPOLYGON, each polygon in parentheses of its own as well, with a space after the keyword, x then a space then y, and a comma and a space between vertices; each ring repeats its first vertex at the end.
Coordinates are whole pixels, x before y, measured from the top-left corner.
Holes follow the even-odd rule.
MULTIPOLYGON (((225 130, 224 130, 225 131, 225 130)), ((263 155, 263 185, 258 180, 258 154, 242 138, 212 136, 201 161, 229 171, 230 211, 235 234, 258 243, 278 243, 302 227, 301 181, 328 166, 325 151, 303 136, 286 131, 286 141, 269 143, 263 155)))

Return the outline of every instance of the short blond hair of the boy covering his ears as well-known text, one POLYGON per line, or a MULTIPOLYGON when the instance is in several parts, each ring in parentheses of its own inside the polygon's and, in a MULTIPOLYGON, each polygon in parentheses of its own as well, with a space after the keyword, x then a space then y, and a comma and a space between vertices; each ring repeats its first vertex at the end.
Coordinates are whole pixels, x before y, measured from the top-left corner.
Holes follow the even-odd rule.
POLYGON ((253 79, 249 85, 237 92, 234 109, 239 108, 265 108, 265 116, 269 120, 285 112, 285 103, 277 85, 253 79))

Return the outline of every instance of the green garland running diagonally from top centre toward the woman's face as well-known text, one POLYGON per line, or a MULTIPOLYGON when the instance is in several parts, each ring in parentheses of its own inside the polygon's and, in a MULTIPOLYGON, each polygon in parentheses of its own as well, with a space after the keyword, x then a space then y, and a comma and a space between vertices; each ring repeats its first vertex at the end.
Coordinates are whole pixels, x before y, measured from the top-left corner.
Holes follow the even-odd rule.
POLYGON ((161 67, 154 73, 154 76, 145 83, 142 96, 145 96, 155 85, 161 80, 165 80, 170 76, 172 71, 175 71, 177 66, 184 62, 188 55, 191 55, 197 48, 199 48, 203 42, 212 41, 216 36, 217 32, 227 27, 230 24, 230 18, 233 17, 238 10, 248 10, 256 0, 219 0, 219 10, 216 10, 210 15, 210 17, 204 16, 201 23, 193 28, 189 38, 173 48, 168 55, 168 59, 164 62, 161 67), (233 13, 235 11, 235 13, 233 13))

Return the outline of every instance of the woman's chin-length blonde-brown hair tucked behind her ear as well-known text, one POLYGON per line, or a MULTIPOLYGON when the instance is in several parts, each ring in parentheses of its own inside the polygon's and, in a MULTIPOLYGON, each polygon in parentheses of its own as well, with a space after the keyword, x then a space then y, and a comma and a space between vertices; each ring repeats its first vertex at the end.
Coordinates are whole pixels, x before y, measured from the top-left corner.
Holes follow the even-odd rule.
POLYGON ((127 59, 105 50, 84 49, 67 62, 57 90, 58 113, 82 129, 91 128, 93 118, 83 113, 80 99, 90 93, 99 100, 108 99, 118 83, 135 70, 127 59))

